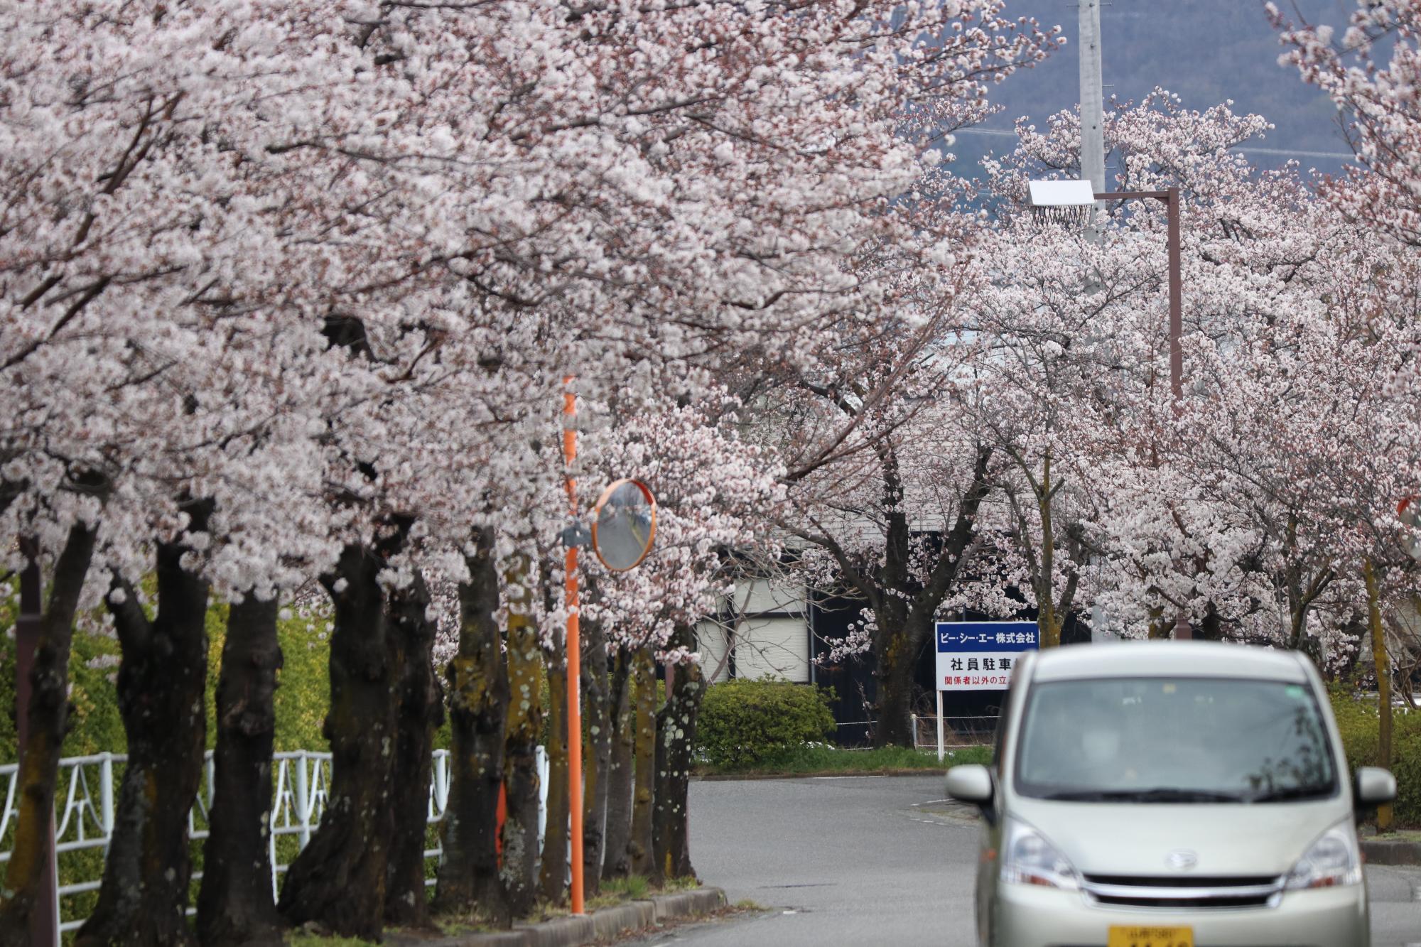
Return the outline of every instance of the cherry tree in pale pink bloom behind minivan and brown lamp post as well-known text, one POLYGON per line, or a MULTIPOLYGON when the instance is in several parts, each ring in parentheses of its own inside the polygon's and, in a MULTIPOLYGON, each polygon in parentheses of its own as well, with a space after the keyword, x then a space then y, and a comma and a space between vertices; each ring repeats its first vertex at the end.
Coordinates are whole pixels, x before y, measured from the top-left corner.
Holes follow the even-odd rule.
MULTIPOLYGON (((1017 192, 1043 168, 1070 175, 1073 122, 1061 115, 1046 134, 1023 128, 1022 151, 989 164, 1002 191, 1017 192)), ((1343 536, 1376 522, 1381 508, 1344 509, 1340 501, 1366 491, 1324 488, 1319 478, 1356 469, 1358 456, 1368 464, 1388 456, 1394 469, 1408 469, 1415 435, 1401 418, 1387 422, 1394 441, 1366 444, 1368 425, 1353 428, 1356 411, 1347 410, 1390 412, 1404 404, 1385 391, 1408 361, 1405 294, 1397 293, 1398 270, 1408 266, 1394 247, 1331 218, 1296 169, 1256 172, 1228 151, 1265 129, 1262 119, 1226 107, 1184 112, 1162 94, 1107 117, 1123 186, 1177 183, 1185 196, 1184 404, 1174 421, 1158 384, 1161 220, 1137 210, 1114 225, 1144 237, 1130 237, 1134 250, 1120 243, 1128 235, 1110 225, 1100 237, 1142 264, 1118 301, 1093 246, 1060 253, 1056 272, 1074 270, 1077 286, 1096 293, 1094 300, 1091 293, 1064 297, 1100 306, 1094 331, 1070 336, 1076 363, 1097 365, 1088 384, 1073 382, 1074 392, 1042 385, 1029 404, 1066 397, 1070 405, 1063 414, 1087 501, 1080 537, 1096 559, 1080 573, 1081 584, 1113 624, 1154 634, 1184 609, 1206 637, 1339 657, 1354 647, 1349 627, 1361 600, 1358 559, 1343 536), (1378 336, 1381 323, 1350 316, 1356 311, 1390 311, 1385 320, 1395 327, 1378 336), (1360 324, 1368 328, 1358 336, 1360 324), (1286 421, 1259 405, 1286 405, 1286 421), (1319 609, 1323 627, 1313 637, 1307 617, 1319 609)), ((1049 260, 1034 266, 1030 272, 1052 274, 1049 260)), ((1006 291, 1019 286, 1007 280, 1006 291)), ((1017 319, 1037 320, 1056 309, 1049 293, 1013 306, 1025 314, 1017 319)), ((1063 336, 1032 338, 1060 344, 1063 336)))

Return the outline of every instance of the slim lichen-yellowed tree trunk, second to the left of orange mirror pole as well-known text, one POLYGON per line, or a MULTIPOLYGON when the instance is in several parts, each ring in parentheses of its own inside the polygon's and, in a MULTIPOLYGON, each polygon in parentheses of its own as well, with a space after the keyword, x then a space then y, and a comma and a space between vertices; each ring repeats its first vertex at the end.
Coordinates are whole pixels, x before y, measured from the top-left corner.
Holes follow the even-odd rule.
POLYGON ((506 815, 503 866, 499 870, 509 913, 526 917, 537 900, 537 744, 543 735, 543 651, 529 614, 527 557, 517 555, 509 567, 509 719, 504 734, 506 815))

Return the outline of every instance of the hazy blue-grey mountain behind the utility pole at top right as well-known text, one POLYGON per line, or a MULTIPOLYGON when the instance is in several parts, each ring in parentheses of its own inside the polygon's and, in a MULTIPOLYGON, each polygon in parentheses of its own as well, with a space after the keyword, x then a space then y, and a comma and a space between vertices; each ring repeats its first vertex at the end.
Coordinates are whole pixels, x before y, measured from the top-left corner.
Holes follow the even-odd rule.
MULTIPOLYGON (((1293 20, 1327 23, 1340 36, 1354 0, 1276 0, 1293 20)), ((1060 24, 1066 46, 1032 70, 996 85, 1000 107, 986 122, 963 129, 952 146, 958 173, 972 176, 988 152, 1013 148, 1012 127, 1027 117, 1037 129, 1047 117, 1074 109, 1080 100, 1077 10, 1071 0, 1007 0, 1006 16, 1034 17, 1043 28, 1060 24)), ((1296 159, 1303 169, 1337 173, 1351 151, 1331 101, 1277 64, 1283 47, 1263 11, 1263 0, 1104 0, 1100 10, 1106 107, 1110 100, 1140 101, 1157 85, 1181 97, 1185 108, 1205 109, 1233 100, 1238 114, 1263 115, 1276 127, 1253 148, 1255 164, 1276 168, 1296 159)), ((1113 169, 1107 166, 1107 176, 1113 169)))

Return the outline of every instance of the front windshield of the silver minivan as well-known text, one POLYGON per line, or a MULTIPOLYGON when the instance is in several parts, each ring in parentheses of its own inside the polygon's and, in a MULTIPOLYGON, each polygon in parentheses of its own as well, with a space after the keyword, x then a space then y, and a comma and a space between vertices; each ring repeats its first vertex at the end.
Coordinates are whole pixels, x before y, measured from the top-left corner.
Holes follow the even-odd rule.
POLYGON ((1337 775, 1312 688, 1219 677, 1042 681, 1016 791, 1081 802, 1282 802, 1337 775))

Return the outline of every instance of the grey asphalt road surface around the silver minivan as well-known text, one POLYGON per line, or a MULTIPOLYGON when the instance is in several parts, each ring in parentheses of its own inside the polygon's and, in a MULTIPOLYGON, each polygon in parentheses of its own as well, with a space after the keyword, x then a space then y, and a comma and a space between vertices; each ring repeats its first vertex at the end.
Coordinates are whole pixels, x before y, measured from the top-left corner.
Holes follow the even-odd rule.
MULTIPOLYGON (((976 947, 976 842, 938 775, 693 782, 696 873, 767 910, 641 943, 976 947)), ((1421 869, 1370 867, 1367 880, 1374 947, 1421 946, 1421 869)))

